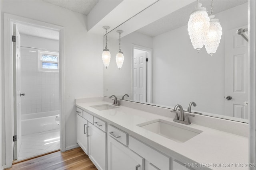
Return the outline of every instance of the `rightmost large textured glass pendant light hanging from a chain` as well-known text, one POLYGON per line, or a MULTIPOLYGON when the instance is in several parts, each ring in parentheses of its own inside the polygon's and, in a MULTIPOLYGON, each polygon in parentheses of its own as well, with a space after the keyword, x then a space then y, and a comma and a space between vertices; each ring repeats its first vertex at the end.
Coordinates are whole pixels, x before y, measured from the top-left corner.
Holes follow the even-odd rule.
POLYGON ((206 34, 205 48, 208 54, 212 55, 216 53, 220 43, 222 35, 222 27, 218 19, 214 18, 213 15, 213 3, 211 2, 211 16, 210 16, 210 27, 206 34))

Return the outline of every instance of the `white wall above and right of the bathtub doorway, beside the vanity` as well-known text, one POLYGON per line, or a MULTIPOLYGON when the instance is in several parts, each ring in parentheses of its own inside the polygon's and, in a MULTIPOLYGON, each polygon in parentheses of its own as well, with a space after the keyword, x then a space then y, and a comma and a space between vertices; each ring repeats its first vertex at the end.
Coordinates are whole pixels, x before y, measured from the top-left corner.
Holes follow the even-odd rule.
POLYGON ((103 96, 102 36, 86 31, 86 16, 47 2, 4 0, 2 7, 2 12, 64 27, 65 140, 66 148, 76 146, 74 99, 103 96))

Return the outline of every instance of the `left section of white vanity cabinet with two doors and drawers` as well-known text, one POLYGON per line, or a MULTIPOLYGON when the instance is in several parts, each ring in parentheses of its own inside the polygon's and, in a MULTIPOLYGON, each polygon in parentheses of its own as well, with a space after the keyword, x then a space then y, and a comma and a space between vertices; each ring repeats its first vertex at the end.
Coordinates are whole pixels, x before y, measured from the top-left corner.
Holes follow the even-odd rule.
POLYGON ((76 138, 98 170, 107 169, 106 122, 77 107, 76 138), (95 122, 94 122, 95 121, 95 122), (95 123, 95 125, 93 124, 95 123))

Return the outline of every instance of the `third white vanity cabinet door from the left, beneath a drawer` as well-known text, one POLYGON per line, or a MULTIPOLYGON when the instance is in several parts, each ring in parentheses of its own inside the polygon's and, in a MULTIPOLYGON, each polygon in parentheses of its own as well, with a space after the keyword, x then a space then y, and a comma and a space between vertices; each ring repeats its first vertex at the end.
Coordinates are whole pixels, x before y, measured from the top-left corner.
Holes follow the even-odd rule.
POLYGON ((108 170, 143 170, 144 158, 108 136, 108 170))

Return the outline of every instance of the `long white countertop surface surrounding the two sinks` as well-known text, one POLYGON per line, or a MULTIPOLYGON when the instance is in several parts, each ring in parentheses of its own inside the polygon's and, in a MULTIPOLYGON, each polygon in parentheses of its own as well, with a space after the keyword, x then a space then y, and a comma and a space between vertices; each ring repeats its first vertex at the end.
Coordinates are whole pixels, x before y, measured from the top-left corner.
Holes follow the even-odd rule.
POLYGON ((173 122, 172 118, 124 106, 117 106, 118 108, 116 109, 102 111, 90 107, 101 104, 112 105, 112 103, 101 101, 77 103, 76 106, 126 131, 129 135, 138 138, 164 154, 182 159, 186 163, 199 163, 201 168, 195 169, 206 169, 204 166, 210 167, 210 169, 248 169, 246 167, 238 168, 235 166, 235 164, 246 166, 249 162, 249 142, 246 137, 195 125, 192 122, 191 125, 184 126, 192 127, 203 132, 184 143, 178 143, 137 126, 140 123, 154 119, 164 119, 173 122), (230 167, 227 168, 224 166, 230 167))

